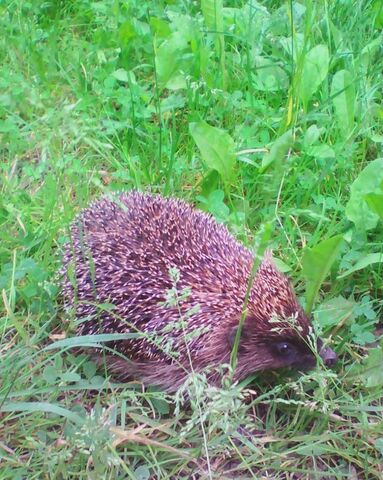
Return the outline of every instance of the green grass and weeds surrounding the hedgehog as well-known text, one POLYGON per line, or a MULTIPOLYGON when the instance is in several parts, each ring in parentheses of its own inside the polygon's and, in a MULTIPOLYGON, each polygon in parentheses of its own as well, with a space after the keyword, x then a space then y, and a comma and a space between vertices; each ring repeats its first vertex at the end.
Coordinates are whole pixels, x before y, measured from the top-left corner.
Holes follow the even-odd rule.
POLYGON ((224 7, 0 6, 1 479, 382 478, 381 2, 224 7), (71 219, 133 188, 185 198, 249 245, 271 224, 336 368, 242 390, 202 378, 183 405, 47 348, 74 334, 57 286, 71 219))

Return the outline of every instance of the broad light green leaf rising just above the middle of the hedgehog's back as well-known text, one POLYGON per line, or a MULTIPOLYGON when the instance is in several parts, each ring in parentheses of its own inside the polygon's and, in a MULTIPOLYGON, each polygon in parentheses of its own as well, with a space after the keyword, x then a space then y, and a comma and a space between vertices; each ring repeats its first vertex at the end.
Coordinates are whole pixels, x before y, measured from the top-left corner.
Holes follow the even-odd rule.
POLYGON ((216 170, 223 180, 233 180, 235 144, 231 136, 204 121, 190 123, 189 131, 207 167, 216 170))

